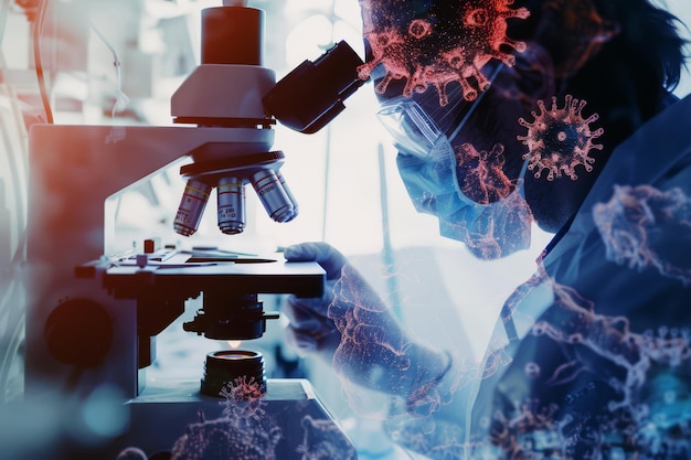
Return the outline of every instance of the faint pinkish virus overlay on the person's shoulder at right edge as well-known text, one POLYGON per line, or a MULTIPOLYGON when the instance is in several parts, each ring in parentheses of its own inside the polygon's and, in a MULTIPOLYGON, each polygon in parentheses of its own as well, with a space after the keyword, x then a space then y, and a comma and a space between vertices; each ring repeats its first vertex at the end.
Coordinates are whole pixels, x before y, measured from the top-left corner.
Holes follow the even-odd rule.
POLYGON ((691 200, 681 189, 615 185, 609 202, 593 206, 593 220, 608 260, 691 284, 691 260, 680 250, 691 245, 691 200))

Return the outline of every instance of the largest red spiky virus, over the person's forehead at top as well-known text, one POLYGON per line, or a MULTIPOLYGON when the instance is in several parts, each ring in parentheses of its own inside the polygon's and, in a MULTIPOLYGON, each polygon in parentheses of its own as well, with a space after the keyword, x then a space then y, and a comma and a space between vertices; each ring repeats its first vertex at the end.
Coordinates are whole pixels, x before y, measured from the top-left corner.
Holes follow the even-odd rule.
POLYGON ((482 68, 490 60, 512 66, 515 58, 504 50, 525 50, 525 43, 507 36, 507 20, 525 19, 525 8, 512 9, 512 0, 468 0, 449 2, 444 11, 427 11, 421 18, 402 9, 395 0, 361 0, 363 35, 372 58, 358 68, 368 79, 380 64, 385 75, 375 90, 385 94, 392 81, 405 79, 402 95, 424 93, 429 86, 439 96, 439 105, 448 104, 447 85, 456 82, 463 98, 475 100, 479 90, 489 86, 482 68), (456 4, 458 3, 458 4, 456 4), (440 21, 442 17, 454 18, 440 21), (401 18, 407 18, 401 20, 401 18))

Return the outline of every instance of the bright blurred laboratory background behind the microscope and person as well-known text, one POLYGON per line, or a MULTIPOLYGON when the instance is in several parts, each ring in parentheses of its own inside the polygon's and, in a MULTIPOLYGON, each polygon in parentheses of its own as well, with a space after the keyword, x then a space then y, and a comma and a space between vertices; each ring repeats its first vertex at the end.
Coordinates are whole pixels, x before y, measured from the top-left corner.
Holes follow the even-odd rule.
MULTIPOLYGON (((200 11, 221 0, 1 0, 0 1, 0 458, 50 446, 65 420, 43 402, 25 414, 10 411, 23 398, 28 131, 34 124, 168 126, 171 94, 200 62, 200 11), (40 26, 36 26, 39 24, 40 26), (40 414, 40 417, 36 417, 40 414)), ((668 7, 691 20, 684 0, 668 7)), ((249 0, 266 13, 265 63, 286 75, 347 41, 362 57, 355 0, 249 0)), ((213 88, 219 90, 221 88, 213 88)), ((680 94, 691 90, 684 75, 680 94)), ((208 213, 199 244, 241 253, 280 250, 301 242, 327 242, 349 256, 396 314, 430 345, 470 347, 480 355, 502 301, 528 279, 551 235, 534 228, 530 249, 492 261, 476 259, 438 235, 436 218, 417 213, 398 178, 395 150, 375 114, 365 84, 347 109, 315 135, 276 126, 275 146, 286 154, 283 175, 299 203, 299 216, 280 224, 247 195, 247 228, 222 235, 208 213), (257 211, 258 210, 258 211, 257 211)), ((117 231, 181 238, 171 232, 184 183, 179 165, 118 197, 117 231)), ((212 196, 211 200, 214 200, 212 196)), ((213 204, 210 203, 213 208, 213 204)), ((50 234, 45 238, 51 238, 50 234)), ((279 310, 281 296, 265 309, 279 310)), ((205 353, 217 343, 182 330, 194 311, 158 340, 149 378, 199 378, 205 353)), ((360 458, 410 458, 391 442, 381 418, 348 404, 328 364, 299 356, 284 341, 285 319, 272 321, 252 344, 266 359, 268 377, 312 382, 360 458)), ((237 344, 231 344, 237 346, 237 344)), ((26 407, 22 406, 22 407, 26 407)), ((376 413, 376 410, 373 410, 376 413)), ((74 417, 88 414, 74 414, 74 417)), ((9 456, 9 457, 6 457, 9 456)), ((115 460, 115 459, 114 459, 115 460)))

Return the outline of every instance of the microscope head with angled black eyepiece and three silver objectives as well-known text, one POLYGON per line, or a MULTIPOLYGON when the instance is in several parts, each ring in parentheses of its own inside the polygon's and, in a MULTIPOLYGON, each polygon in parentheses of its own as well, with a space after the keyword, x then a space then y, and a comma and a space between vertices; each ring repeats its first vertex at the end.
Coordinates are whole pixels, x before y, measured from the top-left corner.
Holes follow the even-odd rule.
POLYGON ((313 133, 343 109, 343 100, 364 81, 357 73, 362 60, 344 42, 315 62, 306 60, 280 82, 264 67, 264 11, 246 1, 225 0, 202 11, 201 65, 171 98, 177 124, 223 127, 237 141, 210 142, 187 152, 193 164, 182 167, 188 181, 174 220, 183 236, 194 234, 213 189, 222 233, 245 228, 245 185, 251 183, 269 217, 295 218, 298 204, 279 172, 281 151, 270 151, 276 120, 313 133))

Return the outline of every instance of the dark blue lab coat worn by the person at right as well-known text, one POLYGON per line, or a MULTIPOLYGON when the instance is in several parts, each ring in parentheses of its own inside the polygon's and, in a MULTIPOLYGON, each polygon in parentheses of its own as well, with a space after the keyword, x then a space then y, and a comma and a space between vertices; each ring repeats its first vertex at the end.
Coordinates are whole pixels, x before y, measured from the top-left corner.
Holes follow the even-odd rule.
POLYGON ((688 96, 618 146, 509 299, 469 451, 691 458, 690 128, 688 96))

